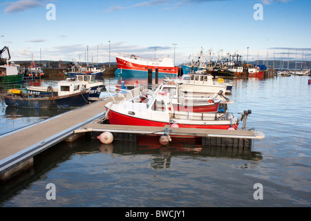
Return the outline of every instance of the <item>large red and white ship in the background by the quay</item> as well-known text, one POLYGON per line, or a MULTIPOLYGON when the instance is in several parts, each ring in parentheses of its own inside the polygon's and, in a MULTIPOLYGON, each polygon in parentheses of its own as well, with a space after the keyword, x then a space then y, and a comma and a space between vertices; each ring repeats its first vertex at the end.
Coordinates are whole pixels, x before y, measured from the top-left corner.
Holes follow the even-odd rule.
POLYGON ((178 74, 178 67, 175 67, 173 60, 170 57, 163 57, 160 59, 156 58, 146 58, 138 57, 136 55, 126 55, 119 53, 120 55, 116 57, 117 68, 121 70, 138 70, 147 72, 148 69, 156 71, 158 68, 158 73, 164 74, 178 74))

